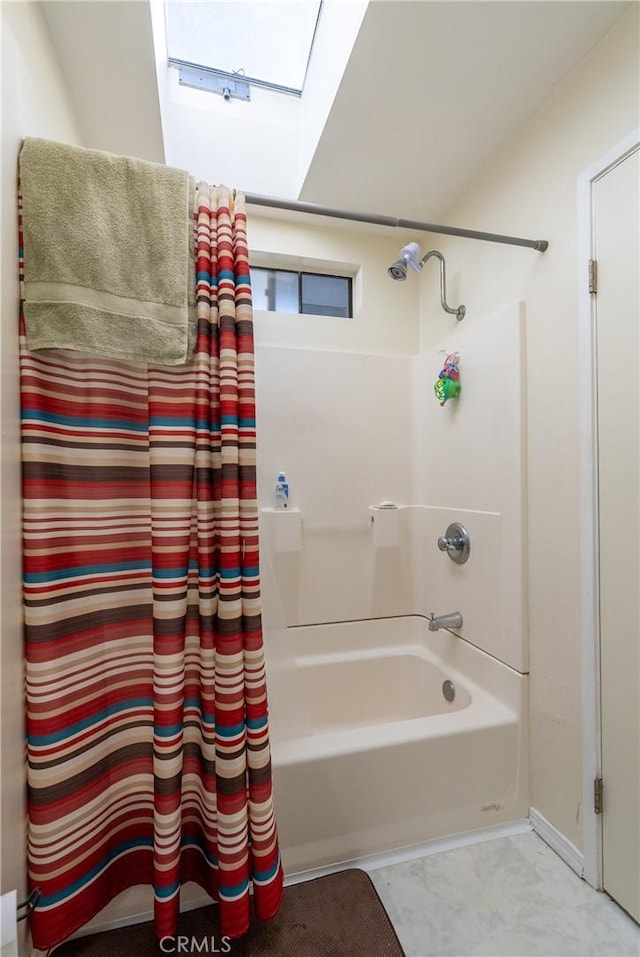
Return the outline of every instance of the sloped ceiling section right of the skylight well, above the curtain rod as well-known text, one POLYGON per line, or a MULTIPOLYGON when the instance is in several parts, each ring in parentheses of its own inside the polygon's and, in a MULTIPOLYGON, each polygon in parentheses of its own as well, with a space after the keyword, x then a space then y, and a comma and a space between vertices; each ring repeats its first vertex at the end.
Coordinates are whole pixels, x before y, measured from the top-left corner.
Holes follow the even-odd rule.
POLYGON ((437 220, 628 7, 371 3, 300 198, 437 220))

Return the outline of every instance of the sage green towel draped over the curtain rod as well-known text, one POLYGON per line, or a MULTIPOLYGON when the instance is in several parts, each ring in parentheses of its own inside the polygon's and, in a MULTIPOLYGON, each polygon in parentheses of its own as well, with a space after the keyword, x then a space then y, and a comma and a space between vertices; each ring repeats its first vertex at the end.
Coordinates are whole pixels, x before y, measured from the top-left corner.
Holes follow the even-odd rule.
POLYGON ((29 138, 20 187, 27 347, 185 363, 195 340, 189 174, 29 138))

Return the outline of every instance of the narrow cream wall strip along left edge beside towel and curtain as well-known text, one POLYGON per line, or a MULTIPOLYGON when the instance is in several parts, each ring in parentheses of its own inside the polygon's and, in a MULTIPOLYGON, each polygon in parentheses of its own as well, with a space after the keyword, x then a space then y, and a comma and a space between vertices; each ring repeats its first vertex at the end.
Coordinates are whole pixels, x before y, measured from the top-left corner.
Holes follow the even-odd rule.
MULTIPOLYGON (((18 150, 25 136, 79 143, 39 4, 2 4, 2 323, 0 523, 2 662, 2 892, 24 896, 25 765, 18 378, 18 150)), ((23 925, 24 926, 24 925, 23 925)))

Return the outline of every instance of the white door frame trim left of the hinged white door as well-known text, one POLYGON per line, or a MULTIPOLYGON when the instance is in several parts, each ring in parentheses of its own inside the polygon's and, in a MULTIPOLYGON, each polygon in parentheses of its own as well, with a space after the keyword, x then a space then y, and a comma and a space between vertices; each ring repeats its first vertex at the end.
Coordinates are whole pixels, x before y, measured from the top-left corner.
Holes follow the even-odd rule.
POLYGON ((580 633, 582 652, 583 877, 602 887, 602 815, 593 806, 593 782, 602 772, 600 714, 600 594, 598 539, 598 420, 595 297, 588 262, 594 258, 593 187, 640 144, 633 130, 578 177, 578 363, 580 401, 580 633))

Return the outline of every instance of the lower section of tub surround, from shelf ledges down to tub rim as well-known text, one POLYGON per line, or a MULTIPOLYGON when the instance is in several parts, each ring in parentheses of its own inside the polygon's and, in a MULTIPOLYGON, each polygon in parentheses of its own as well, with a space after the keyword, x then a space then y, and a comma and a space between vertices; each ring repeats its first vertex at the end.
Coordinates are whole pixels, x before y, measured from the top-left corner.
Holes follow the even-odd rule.
POLYGON ((295 517, 296 549, 286 551, 282 543, 293 537, 289 530, 294 520, 263 509, 263 561, 273 570, 265 592, 277 589, 282 610, 282 617, 275 619, 267 614, 267 624, 312 625, 403 613, 431 616, 456 609, 464 619, 462 628, 454 629, 457 633, 526 674, 523 583, 517 560, 516 568, 509 568, 503 556, 503 516, 427 505, 401 505, 389 512, 393 527, 385 529, 382 545, 366 514, 359 524, 308 528, 300 513, 295 517), (469 532, 471 554, 464 565, 438 548, 438 537, 453 521, 462 522, 469 532), (389 534, 397 541, 390 547, 389 534), (366 576, 355 595, 347 556, 356 567, 354 577, 366 576))

